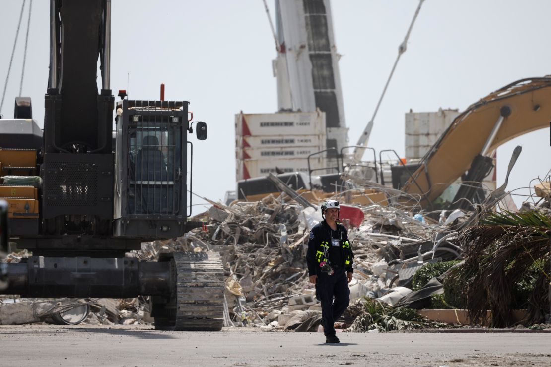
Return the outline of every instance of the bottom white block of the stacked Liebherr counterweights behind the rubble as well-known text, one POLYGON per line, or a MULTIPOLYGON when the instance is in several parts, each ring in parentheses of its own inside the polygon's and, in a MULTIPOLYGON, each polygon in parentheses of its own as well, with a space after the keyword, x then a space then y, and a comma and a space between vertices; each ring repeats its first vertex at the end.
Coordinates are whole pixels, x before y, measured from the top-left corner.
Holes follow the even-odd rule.
MULTIPOLYGON (((325 158, 311 158, 310 166, 314 168, 326 167, 325 158)), ((236 160, 236 180, 242 180, 253 177, 263 177, 268 173, 287 173, 287 172, 303 172, 308 174, 308 161, 301 158, 273 158, 273 159, 261 159, 261 160, 236 160)), ((336 172, 333 170, 319 170, 314 171, 312 175, 319 175, 322 173, 336 172)))

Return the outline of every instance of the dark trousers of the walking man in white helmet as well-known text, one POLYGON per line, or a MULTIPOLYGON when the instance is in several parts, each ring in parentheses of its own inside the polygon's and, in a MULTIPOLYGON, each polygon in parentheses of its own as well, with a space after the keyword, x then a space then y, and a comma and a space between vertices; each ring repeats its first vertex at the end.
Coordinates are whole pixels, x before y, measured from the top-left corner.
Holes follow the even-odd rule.
POLYGON ((322 272, 317 276, 316 298, 321 302, 321 326, 325 336, 334 336, 333 324, 350 303, 350 289, 348 279, 343 268, 338 269, 333 275, 322 272), (333 302, 333 296, 335 298, 333 302))

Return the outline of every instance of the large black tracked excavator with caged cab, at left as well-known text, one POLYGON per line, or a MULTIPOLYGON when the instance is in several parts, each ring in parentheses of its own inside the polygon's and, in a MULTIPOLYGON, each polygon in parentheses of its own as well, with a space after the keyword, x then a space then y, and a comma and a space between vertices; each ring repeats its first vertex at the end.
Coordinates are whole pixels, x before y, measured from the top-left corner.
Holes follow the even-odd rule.
MULTIPOLYGON (((30 98, 16 98, 14 118, 0 119, 0 199, 8 202, 10 240, 33 254, 2 264, 8 282, 2 293, 148 295, 158 329, 220 330, 218 254, 166 253, 159 261, 127 255, 142 242, 179 237, 201 223, 187 220, 189 102, 128 100, 120 92, 115 103, 110 26, 111 0, 51 0, 44 133, 32 119, 30 98)), ((206 139, 205 123, 195 129, 206 139)))

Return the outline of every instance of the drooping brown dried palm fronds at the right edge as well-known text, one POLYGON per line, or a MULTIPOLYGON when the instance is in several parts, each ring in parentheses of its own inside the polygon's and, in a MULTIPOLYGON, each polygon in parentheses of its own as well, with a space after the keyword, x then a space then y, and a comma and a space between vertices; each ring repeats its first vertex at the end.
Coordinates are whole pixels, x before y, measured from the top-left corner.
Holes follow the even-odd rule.
MULTIPOLYGON (((517 282, 533 264, 549 258, 549 226, 542 211, 489 213, 478 226, 460 233, 465 262, 456 276, 464 284, 473 322, 487 321, 486 311, 491 310, 493 326, 512 324, 509 311, 517 282)), ((548 276, 544 269, 542 277, 548 276)), ((531 319, 537 318, 536 309, 529 311, 531 319)))

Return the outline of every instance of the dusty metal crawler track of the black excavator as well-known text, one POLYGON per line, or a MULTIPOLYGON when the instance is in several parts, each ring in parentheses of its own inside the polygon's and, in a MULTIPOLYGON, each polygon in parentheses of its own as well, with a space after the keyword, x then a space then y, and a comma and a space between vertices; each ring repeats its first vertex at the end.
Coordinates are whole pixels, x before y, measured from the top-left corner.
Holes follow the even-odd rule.
POLYGON ((220 255, 172 253, 175 291, 167 317, 155 317, 158 330, 220 331, 224 311, 224 270, 220 255))

